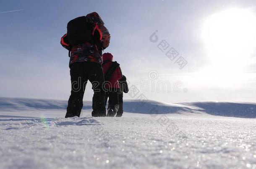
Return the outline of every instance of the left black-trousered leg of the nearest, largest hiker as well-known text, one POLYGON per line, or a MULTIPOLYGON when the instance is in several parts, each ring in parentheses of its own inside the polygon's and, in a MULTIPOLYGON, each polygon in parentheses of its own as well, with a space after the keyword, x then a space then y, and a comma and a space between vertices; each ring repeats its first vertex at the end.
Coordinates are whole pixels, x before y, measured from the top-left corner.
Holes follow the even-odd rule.
POLYGON ((80 116, 83 107, 84 90, 87 77, 84 72, 83 63, 74 63, 70 69, 71 95, 68 99, 68 107, 65 118, 80 116))

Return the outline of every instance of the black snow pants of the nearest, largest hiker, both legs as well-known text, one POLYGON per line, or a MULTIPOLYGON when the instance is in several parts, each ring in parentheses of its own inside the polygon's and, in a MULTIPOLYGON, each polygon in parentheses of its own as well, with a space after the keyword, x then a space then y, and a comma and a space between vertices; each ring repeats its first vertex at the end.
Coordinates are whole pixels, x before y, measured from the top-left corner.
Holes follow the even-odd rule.
POLYGON ((83 107, 84 91, 89 80, 94 90, 92 98, 91 116, 106 116, 105 91, 102 88, 104 73, 102 65, 94 62, 73 63, 70 67, 71 96, 68 100, 67 113, 65 118, 80 116, 83 107))

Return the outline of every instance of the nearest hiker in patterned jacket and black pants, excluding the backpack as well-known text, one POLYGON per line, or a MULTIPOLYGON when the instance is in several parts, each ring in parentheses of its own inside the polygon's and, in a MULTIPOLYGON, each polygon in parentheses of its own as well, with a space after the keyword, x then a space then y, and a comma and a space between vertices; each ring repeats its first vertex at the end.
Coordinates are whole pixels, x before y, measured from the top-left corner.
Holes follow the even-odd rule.
POLYGON ((63 35, 60 41, 61 45, 70 51, 71 96, 68 100, 65 118, 80 116, 88 80, 92 83, 94 90, 91 115, 94 117, 106 116, 105 91, 102 88, 104 83, 102 50, 109 46, 110 33, 98 13, 89 13, 86 18, 92 20, 94 24, 93 33, 100 35, 100 46, 97 45, 99 43, 94 42, 84 42, 72 46, 68 41, 67 34, 63 35))

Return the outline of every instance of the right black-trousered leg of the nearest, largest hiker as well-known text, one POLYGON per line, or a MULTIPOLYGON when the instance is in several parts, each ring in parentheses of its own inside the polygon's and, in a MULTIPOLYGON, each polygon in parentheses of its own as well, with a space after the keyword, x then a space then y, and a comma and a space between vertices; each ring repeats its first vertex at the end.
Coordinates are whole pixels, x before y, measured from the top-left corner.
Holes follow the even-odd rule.
POLYGON ((104 84, 104 73, 102 71, 102 66, 99 63, 90 63, 91 66, 88 66, 89 81, 92 84, 92 89, 94 95, 92 98, 92 109, 91 116, 99 117, 106 116, 106 107, 105 107, 105 91, 103 89, 104 84))

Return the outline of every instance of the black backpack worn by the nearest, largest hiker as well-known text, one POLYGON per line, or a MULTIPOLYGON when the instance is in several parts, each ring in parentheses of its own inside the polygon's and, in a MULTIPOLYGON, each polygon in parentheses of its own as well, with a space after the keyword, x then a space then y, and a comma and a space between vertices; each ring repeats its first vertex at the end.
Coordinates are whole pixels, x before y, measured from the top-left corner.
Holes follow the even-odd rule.
POLYGON ((94 22, 91 18, 81 16, 68 22, 67 35, 68 41, 71 45, 78 45, 81 43, 89 42, 97 44, 97 47, 101 49, 101 43, 99 40, 99 32, 94 31, 94 22), (93 35, 94 31, 94 35, 93 35))

